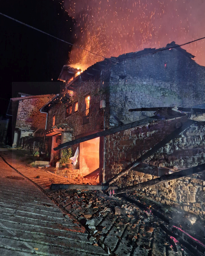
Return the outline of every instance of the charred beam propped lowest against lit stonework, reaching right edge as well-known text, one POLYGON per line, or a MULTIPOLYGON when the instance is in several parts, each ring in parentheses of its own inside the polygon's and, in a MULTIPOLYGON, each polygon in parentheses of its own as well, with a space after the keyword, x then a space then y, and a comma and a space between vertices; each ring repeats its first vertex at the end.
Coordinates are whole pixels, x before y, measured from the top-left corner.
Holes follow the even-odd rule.
POLYGON ((135 190, 135 189, 142 189, 142 188, 145 188, 145 187, 150 187, 150 186, 153 186, 153 185, 160 184, 164 181, 171 181, 171 180, 179 179, 179 178, 189 176, 189 175, 192 175, 192 174, 200 172, 200 171, 205 171, 205 164, 197 165, 195 167, 192 167, 192 168, 189 168, 189 169, 186 169, 186 170, 182 170, 182 171, 178 171, 178 172, 175 172, 175 173, 172 173, 172 174, 163 175, 159 178, 156 178, 156 179, 153 179, 153 180, 150 180, 150 181, 145 181, 145 182, 133 185, 133 186, 114 189, 114 190, 111 191, 111 194, 121 194, 121 193, 126 193, 126 192, 129 192, 131 190, 135 190))

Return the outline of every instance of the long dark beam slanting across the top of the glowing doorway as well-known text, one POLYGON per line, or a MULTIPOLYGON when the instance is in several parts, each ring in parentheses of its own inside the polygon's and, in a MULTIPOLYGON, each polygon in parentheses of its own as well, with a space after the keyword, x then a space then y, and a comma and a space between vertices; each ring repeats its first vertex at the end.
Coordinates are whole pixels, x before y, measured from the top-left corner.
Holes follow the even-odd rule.
POLYGON ((130 128, 134 128, 134 127, 137 127, 137 126, 140 126, 140 125, 150 123, 150 122, 155 121, 155 120, 157 120, 157 118, 155 116, 148 117, 148 118, 142 119, 140 121, 136 121, 136 122, 133 122, 133 123, 127 123, 127 124, 124 124, 124 125, 121 125, 121 126, 117 126, 117 127, 114 127, 114 128, 107 129, 107 130, 102 131, 102 132, 93 133, 93 134, 81 137, 79 139, 74 139, 74 140, 68 141, 66 143, 60 144, 57 148, 54 148, 54 150, 70 147, 74 144, 78 144, 78 143, 84 142, 84 141, 89 140, 89 139, 95 139, 97 137, 102 137, 102 136, 106 136, 106 135, 109 135, 109 134, 112 134, 112 133, 121 132, 121 131, 130 129, 130 128))

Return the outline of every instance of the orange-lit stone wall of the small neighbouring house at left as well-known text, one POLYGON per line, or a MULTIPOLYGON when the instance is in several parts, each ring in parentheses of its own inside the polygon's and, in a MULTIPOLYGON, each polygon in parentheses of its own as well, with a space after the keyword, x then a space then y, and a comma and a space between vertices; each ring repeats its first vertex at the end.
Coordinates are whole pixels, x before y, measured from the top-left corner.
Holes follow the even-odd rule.
POLYGON ((26 130, 37 130, 37 128, 45 129, 46 114, 43 114, 39 109, 50 101, 51 95, 45 97, 32 97, 19 101, 19 107, 16 117, 16 128, 26 130))

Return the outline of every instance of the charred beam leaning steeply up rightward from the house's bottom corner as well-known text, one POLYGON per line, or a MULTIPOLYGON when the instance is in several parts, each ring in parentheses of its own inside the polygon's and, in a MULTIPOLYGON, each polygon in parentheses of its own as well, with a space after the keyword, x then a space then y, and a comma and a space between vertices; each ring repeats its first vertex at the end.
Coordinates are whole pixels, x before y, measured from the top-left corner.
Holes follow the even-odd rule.
POLYGON ((182 123, 181 126, 179 126, 179 129, 175 129, 172 133, 170 133, 166 138, 164 138, 162 141, 160 141, 158 144, 156 144, 152 149, 147 151, 144 155, 142 155, 140 158, 138 158, 136 161, 128 165, 125 169, 123 169, 120 173, 118 173, 116 176, 110 179, 110 181, 106 182, 106 185, 112 184, 116 180, 118 180, 121 176, 128 173, 128 171, 131 171, 134 167, 142 163, 142 161, 146 160, 149 156, 153 155, 155 152, 157 152, 160 148, 165 146, 170 140, 176 138, 179 133, 184 132, 191 124, 195 123, 193 120, 188 120, 185 123, 182 123))

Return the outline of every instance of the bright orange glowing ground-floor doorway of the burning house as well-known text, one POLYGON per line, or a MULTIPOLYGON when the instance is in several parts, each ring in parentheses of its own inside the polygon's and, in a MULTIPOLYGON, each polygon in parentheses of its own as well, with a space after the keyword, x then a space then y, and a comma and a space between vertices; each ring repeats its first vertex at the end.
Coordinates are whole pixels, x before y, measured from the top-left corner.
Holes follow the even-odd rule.
POLYGON ((96 171, 99 181, 100 166, 100 137, 80 143, 79 149, 79 170, 83 176, 96 171))

